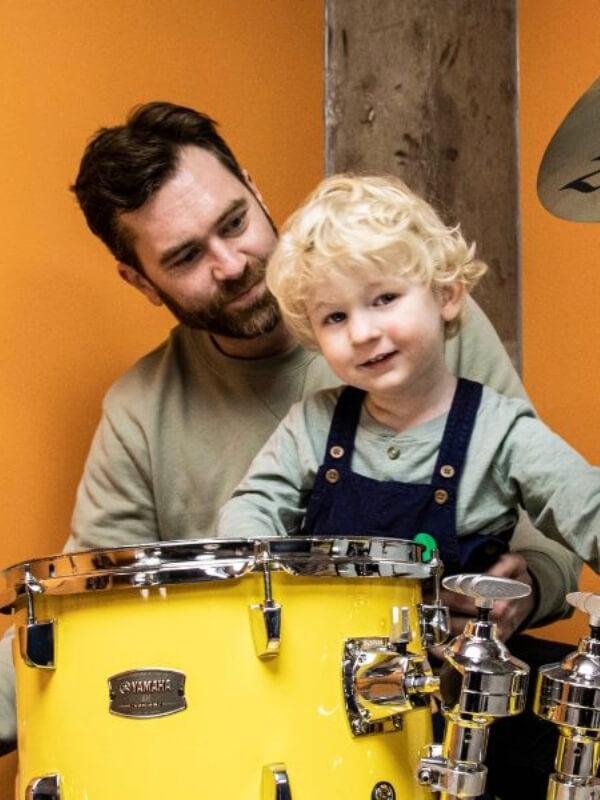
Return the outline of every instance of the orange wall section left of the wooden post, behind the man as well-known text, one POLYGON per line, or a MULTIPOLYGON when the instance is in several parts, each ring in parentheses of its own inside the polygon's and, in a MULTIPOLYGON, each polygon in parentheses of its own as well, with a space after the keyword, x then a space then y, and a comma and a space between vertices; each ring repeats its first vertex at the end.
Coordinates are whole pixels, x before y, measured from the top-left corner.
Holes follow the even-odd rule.
POLYGON ((322 6, 0 3, 0 565, 62 547, 101 397, 172 324, 117 278, 67 191, 86 140, 147 100, 206 110, 282 221, 323 170, 322 6))

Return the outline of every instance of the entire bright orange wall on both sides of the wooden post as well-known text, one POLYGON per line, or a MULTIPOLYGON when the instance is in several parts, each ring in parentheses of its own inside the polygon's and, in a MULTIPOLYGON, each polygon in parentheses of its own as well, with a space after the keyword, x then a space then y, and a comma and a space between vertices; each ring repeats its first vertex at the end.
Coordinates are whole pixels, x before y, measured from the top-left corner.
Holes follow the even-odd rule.
MULTIPOLYGON (((551 217, 535 178, 597 77, 600 6, 519 9, 525 380, 597 462, 600 226, 551 217)), ((88 136, 150 99, 207 110, 281 221, 322 173, 322 12, 322 0, 0 3, 0 564, 60 549, 102 394, 171 325, 118 281, 67 192, 88 136)), ((13 768, 0 760, 0 800, 13 768)))

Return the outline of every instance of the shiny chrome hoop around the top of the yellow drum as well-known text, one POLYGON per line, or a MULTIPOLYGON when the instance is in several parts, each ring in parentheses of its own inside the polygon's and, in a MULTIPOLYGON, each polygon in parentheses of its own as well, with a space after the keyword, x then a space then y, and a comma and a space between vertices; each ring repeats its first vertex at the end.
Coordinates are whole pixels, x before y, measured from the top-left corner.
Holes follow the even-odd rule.
POLYGON ((32 589, 44 594, 173 586, 240 578, 271 571, 326 578, 432 576, 438 562, 423 561, 412 541, 364 538, 186 539, 136 547, 61 553, 15 564, 0 573, 4 613, 32 589))

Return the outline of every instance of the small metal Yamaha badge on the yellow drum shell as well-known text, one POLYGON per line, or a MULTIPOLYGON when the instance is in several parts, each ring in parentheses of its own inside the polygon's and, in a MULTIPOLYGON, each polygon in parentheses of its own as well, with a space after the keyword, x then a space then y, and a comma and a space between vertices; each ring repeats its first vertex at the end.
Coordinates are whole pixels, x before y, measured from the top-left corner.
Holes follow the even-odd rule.
POLYGON ((185 674, 172 669, 132 669, 108 679, 109 711, 120 717, 166 717, 187 707, 185 674))

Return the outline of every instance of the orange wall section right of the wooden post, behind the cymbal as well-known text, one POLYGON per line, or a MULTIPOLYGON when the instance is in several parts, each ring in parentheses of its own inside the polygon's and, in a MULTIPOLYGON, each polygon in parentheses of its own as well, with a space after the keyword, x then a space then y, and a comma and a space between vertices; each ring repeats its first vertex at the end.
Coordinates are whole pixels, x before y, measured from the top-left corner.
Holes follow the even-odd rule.
MULTIPOLYGON (((556 129, 600 74, 598 0, 521 0, 521 192, 524 381, 542 418, 600 462, 600 223, 559 220, 536 195, 537 171, 556 129)), ((600 590, 586 569, 582 588, 600 590)), ((551 626, 576 639, 577 612, 551 626)))

